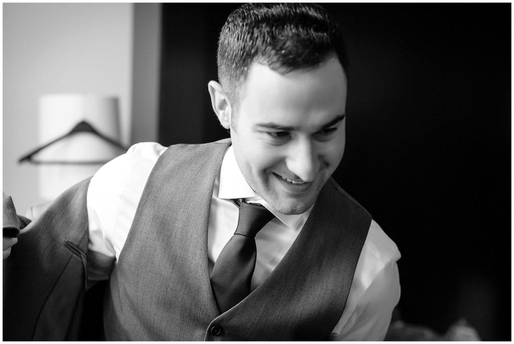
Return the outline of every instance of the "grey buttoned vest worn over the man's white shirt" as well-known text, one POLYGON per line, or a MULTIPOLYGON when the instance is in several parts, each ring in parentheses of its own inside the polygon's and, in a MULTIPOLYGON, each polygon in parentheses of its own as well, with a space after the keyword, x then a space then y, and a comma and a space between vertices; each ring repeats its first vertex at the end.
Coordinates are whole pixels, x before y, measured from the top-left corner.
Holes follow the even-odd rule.
POLYGON ((271 275, 219 313, 207 232, 228 146, 171 146, 157 161, 106 293, 107 340, 322 340, 336 326, 371 216, 332 179, 271 275))

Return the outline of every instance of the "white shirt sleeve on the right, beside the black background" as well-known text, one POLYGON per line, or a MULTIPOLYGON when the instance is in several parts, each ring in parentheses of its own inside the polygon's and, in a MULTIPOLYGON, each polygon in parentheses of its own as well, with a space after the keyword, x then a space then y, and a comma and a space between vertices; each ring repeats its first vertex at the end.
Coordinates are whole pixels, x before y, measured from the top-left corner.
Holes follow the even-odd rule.
POLYGON ((381 341, 400 298, 396 244, 373 221, 331 340, 381 341))

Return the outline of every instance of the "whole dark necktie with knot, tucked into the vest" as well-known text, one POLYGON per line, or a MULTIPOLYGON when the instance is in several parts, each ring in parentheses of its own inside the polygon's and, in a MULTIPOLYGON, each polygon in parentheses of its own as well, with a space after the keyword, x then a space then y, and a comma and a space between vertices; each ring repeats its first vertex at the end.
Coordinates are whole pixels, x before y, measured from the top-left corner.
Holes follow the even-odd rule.
POLYGON ((223 247, 211 273, 211 285, 219 311, 228 311, 248 294, 255 270, 255 235, 272 218, 259 204, 243 202, 234 235, 223 247))

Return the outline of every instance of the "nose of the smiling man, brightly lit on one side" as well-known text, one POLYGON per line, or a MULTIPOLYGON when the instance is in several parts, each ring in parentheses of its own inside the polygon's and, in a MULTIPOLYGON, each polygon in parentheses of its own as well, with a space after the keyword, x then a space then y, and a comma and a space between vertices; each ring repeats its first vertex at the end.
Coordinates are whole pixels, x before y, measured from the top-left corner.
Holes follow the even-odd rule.
POLYGON ((286 158, 287 168, 304 182, 316 178, 319 164, 318 153, 310 139, 299 140, 291 147, 286 158))

